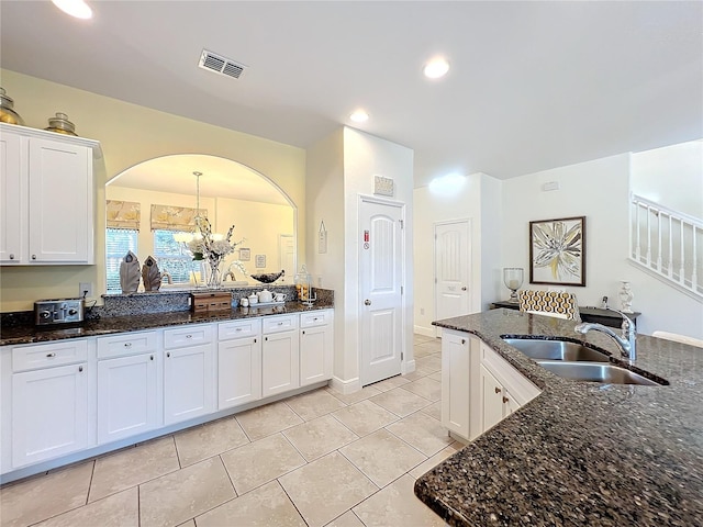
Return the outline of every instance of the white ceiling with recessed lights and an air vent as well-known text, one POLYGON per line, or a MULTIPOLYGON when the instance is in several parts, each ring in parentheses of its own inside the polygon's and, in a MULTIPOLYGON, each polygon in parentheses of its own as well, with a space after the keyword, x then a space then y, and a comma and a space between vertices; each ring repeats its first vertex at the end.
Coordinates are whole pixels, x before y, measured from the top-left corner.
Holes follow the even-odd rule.
POLYGON ((88 1, 86 22, 2 0, 0 65, 303 148, 364 106, 416 186, 703 137, 700 1, 88 1), (248 68, 200 69, 203 48, 248 68))

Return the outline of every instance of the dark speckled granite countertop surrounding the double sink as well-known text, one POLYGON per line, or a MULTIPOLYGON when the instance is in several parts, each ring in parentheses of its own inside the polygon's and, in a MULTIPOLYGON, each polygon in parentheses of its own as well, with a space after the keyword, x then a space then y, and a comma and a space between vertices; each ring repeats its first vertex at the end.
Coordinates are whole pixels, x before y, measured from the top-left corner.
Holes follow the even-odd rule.
POLYGON ((610 337, 573 322, 493 310, 436 325, 479 336, 543 389, 416 481, 447 523, 703 525, 703 349, 640 335, 636 367, 670 384, 599 384, 554 375, 501 339, 567 337, 620 358, 610 337))

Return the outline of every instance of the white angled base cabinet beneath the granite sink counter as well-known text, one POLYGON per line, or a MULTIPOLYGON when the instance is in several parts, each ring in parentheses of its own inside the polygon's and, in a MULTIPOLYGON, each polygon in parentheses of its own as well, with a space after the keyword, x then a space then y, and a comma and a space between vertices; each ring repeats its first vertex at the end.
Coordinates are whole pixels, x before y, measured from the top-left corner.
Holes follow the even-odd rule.
POLYGON ((472 440, 539 394, 478 337, 442 332, 442 424, 472 440))

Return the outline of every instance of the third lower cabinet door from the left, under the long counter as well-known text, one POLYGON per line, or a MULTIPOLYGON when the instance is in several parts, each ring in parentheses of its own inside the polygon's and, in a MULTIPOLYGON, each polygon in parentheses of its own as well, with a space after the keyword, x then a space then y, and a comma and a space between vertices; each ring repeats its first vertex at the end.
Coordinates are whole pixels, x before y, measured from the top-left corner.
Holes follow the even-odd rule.
POLYGON ((214 411, 212 345, 166 351, 164 359, 164 424, 214 411))

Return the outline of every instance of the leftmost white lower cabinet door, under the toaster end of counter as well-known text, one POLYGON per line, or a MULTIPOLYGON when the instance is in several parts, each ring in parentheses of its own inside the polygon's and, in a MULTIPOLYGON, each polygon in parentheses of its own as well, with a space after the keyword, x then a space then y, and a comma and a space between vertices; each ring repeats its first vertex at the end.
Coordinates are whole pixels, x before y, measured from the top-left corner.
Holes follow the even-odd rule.
POLYGON ((56 458, 88 447, 86 365, 12 375, 12 466, 56 458))

